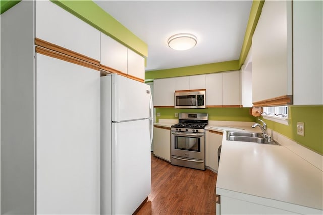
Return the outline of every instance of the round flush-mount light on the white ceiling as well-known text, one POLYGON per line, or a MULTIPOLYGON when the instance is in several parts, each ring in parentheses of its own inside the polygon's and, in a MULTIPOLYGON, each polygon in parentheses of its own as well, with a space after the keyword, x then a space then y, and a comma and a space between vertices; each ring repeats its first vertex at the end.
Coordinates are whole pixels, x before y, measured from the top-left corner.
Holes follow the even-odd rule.
POLYGON ((168 39, 167 43, 174 50, 184 51, 193 48, 197 43, 197 38, 193 34, 175 34, 168 39))

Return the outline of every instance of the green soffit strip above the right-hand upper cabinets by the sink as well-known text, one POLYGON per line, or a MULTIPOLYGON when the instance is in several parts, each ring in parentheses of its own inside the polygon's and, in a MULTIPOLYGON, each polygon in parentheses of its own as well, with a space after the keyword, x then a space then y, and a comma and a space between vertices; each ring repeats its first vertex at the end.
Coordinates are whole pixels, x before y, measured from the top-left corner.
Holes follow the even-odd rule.
POLYGON ((239 57, 239 66, 240 67, 244 63, 244 61, 246 60, 248 52, 250 50, 250 47, 252 44, 252 36, 253 36, 254 30, 256 29, 263 4, 264 4, 264 0, 252 2, 250 15, 249 15, 249 21, 247 24, 247 29, 246 29, 246 33, 244 36, 242 49, 240 52, 240 57, 239 57))

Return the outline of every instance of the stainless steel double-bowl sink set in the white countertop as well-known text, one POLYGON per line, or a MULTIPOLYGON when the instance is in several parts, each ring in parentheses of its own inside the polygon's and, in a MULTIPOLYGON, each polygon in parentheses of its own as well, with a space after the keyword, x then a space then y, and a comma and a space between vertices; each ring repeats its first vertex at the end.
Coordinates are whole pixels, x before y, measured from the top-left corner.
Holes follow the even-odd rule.
POLYGON ((241 142, 255 142, 257 144, 276 144, 276 142, 268 142, 265 140, 261 133, 249 133, 249 132, 235 132, 231 131, 227 133, 227 140, 229 141, 241 141, 241 142))

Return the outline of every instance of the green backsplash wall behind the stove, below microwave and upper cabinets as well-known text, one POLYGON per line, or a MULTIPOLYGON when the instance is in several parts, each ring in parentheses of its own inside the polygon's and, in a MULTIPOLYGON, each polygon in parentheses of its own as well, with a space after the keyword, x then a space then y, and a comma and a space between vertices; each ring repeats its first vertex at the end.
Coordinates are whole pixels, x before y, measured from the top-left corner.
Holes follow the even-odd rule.
POLYGON ((159 119, 178 119, 175 113, 208 113, 208 120, 213 121, 244 121, 254 122, 256 117, 249 114, 250 108, 206 108, 206 109, 175 109, 156 108, 156 113, 160 113, 159 119))

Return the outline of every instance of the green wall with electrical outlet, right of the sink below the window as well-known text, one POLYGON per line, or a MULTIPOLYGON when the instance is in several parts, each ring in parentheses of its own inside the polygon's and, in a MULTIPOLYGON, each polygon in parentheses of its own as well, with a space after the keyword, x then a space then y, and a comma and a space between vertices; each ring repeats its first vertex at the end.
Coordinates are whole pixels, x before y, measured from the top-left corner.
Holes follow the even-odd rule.
POLYGON ((264 121, 271 128, 299 144, 323 154, 323 105, 289 106, 290 125, 270 120, 264 121), (304 122, 305 135, 297 135, 297 122, 304 122))

